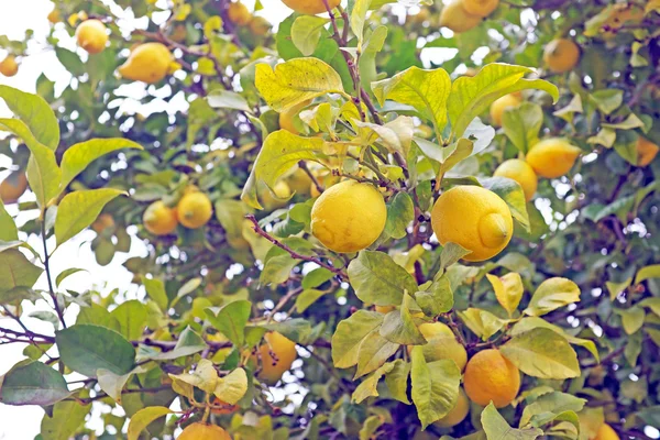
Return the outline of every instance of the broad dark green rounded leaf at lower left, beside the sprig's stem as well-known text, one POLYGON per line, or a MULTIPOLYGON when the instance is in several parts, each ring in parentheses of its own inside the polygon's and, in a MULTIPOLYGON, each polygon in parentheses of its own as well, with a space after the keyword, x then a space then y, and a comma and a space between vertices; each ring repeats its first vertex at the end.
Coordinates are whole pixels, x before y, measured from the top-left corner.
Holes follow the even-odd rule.
POLYGON ((96 377, 99 369, 117 375, 133 370, 135 350, 121 334, 105 327, 76 324, 55 334, 62 361, 75 372, 96 377))

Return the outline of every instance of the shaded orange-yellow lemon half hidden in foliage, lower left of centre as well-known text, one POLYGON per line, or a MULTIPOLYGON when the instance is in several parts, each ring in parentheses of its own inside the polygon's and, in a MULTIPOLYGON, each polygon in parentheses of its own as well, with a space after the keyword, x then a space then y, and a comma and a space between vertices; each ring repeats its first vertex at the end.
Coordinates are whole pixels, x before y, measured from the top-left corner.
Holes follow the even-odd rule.
POLYGON ((290 370, 292 364, 298 358, 298 352, 294 341, 276 331, 264 334, 264 339, 266 342, 258 348, 261 363, 257 362, 256 354, 253 354, 251 359, 261 366, 257 374, 258 380, 268 385, 275 385, 284 372, 290 370))

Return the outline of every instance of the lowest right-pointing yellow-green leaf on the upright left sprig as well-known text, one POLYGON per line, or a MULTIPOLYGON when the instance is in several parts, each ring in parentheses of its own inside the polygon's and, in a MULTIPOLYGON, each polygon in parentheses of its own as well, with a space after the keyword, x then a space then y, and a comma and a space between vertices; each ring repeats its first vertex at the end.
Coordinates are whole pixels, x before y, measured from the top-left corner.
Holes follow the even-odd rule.
POLYGON ((106 205, 124 191, 113 188, 99 188, 69 193, 57 207, 55 237, 62 245, 78 232, 89 227, 101 213, 106 205))

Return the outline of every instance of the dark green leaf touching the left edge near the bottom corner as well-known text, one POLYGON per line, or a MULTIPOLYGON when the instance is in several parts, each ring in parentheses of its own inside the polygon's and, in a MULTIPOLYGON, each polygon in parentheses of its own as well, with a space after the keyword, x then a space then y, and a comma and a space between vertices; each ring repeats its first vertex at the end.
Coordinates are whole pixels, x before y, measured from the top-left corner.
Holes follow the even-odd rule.
POLYGON ((0 377, 4 405, 53 405, 69 395, 64 376, 41 362, 19 363, 0 377))

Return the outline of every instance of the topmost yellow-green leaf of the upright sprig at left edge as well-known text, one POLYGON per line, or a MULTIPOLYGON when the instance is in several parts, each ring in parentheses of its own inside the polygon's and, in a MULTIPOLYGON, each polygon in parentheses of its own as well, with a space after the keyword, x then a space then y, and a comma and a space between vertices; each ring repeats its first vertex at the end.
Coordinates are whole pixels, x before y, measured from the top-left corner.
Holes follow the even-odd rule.
POLYGON ((52 151, 57 148, 59 124, 51 106, 42 97, 9 86, 0 86, 0 98, 16 118, 25 123, 40 143, 52 151))

